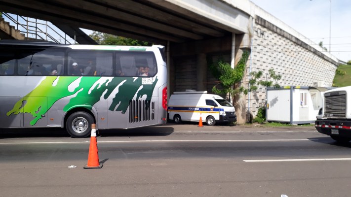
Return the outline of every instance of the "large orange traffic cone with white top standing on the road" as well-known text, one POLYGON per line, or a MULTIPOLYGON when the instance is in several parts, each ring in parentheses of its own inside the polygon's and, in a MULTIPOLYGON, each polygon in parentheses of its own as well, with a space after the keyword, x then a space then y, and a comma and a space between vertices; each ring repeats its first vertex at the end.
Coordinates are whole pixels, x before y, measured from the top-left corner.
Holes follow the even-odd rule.
POLYGON ((96 129, 95 124, 91 125, 91 135, 90 135, 90 146, 88 155, 88 164, 86 164, 84 169, 96 169, 102 168, 103 164, 99 164, 99 153, 97 149, 96 141, 96 129))

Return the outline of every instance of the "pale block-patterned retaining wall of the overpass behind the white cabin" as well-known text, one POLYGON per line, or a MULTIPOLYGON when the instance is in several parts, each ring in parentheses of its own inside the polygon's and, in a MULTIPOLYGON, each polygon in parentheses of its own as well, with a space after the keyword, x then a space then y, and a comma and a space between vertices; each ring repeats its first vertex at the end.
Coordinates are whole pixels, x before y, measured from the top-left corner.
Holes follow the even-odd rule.
MULTIPOLYGON (((282 76, 278 81, 280 86, 332 86, 337 62, 257 16, 251 50, 251 62, 247 63, 246 69, 248 71, 251 66, 251 71, 261 70, 264 73, 262 80, 266 77, 273 80, 268 72, 273 68, 282 76)), ((246 83, 248 79, 246 76, 246 83)), ((247 95, 246 107, 252 115, 264 106, 265 98, 265 87, 247 95)))

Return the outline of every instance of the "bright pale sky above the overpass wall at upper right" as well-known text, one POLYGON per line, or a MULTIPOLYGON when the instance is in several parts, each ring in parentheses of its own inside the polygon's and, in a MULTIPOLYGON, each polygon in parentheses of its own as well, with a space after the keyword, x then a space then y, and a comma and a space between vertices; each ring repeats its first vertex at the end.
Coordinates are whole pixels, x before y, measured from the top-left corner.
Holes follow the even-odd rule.
POLYGON ((322 41, 339 60, 351 60, 351 0, 251 1, 314 43, 322 41))

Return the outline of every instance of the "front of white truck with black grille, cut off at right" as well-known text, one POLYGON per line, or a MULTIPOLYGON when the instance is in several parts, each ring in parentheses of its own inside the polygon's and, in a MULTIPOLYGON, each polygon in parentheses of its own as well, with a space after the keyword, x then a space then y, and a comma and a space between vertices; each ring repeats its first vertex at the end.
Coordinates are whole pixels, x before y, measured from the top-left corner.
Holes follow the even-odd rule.
POLYGON ((338 142, 351 140, 351 86, 324 93, 323 108, 316 117, 318 132, 330 135, 338 142), (350 101, 350 103, 349 103, 350 101))

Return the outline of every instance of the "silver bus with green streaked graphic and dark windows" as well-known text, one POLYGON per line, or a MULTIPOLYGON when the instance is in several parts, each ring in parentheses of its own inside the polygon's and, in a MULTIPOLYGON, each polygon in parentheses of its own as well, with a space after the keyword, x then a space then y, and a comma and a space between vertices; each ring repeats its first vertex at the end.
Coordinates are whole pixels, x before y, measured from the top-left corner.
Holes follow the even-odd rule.
POLYGON ((97 130, 165 124, 164 47, 0 41, 0 127, 97 130))

